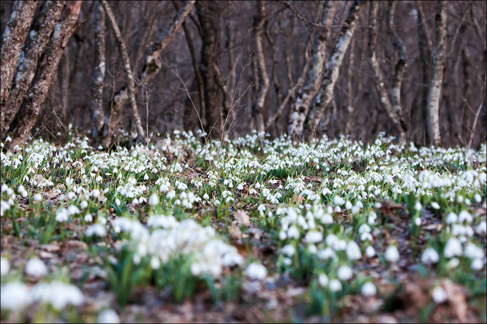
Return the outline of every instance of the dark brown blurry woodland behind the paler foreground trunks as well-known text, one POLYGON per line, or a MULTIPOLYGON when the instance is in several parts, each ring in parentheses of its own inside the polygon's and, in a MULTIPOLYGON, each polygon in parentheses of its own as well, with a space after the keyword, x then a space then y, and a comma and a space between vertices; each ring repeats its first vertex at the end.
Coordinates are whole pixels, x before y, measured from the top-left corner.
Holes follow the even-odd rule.
MULTIPOLYGON (((2 32, 11 17, 14 2, 1 1, 2 32)), ((43 1, 38 2, 40 7, 43 1)), ((206 109, 216 111, 216 114, 221 114, 225 105, 230 108, 228 111, 226 107, 229 119, 224 127, 229 130, 228 136, 244 135, 258 128, 253 105, 261 94, 262 86, 265 86, 265 76, 262 76, 262 66, 256 58, 257 35, 262 44, 265 73, 269 80, 263 98, 265 122, 276 114, 289 93, 281 114, 275 116, 274 122, 265 125, 268 126, 265 130, 271 136, 288 132, 290 112, 303 86, 299 84, 300 76, 306 77, 308 73, 303 73, 303 69, 309 67, 307 60, 313 53, 313 38, 325 28, 319 21, 326 1, 196 1, 174 38, 160 52, 157 58, 162 64, 160 71, 145 85, 139 81, 147 52, 185 3, 106 2, 112 8, 127 47, 135 79, 136 105, 144 130, 148 128, 153 134, 174 129, 195 131, 200 128, 195 109, 201 112, 205 101, 210 101, 206 103, 206 109), (209 50, 208 46, 211 47, 209 50), (208 60, 211 61, 210 68, 208 60), (219 89, 216 96, 206 98, 202 93, 206 88, 201 83, 206 84, 204 79, 211 77, 216 78, 219 89), (295 91, 290 92, 296 83, 296 89, 292 89, 295 91)), ((388 29, 390 2, 376 2, 375 46, 388 93, 393 87, 399 55, 388 29)), ((435 19, 439 4, 437 1, 392 2, 396 2, 393 27, 406 49, 407 66, 400 93, 401 117, 407 124, 407 138, 416 144, 427 145, 430 142, 427 135, 427 97, 432 57, 437 44, 435 19)), ((442 2, 447 18, 446 63, 439 100, 441 144, 468 145, 473 132, 471 146, 478 147, 486 140, 487 2, 442 2), (474 123, 475 129, 472 130, 474 123)), ((331 33, 326 41, 324 69, 352 5, 355 5, 354 1, 338 1, 336 4, 336 12, 331 17, 333 25, 329 26, 331 33)), ((335 137, 343 134, 362 141, 373 140, 381 131, 398 135, 396 124, 381 105, 368 60, 370 5, 365 3, 358 11, 356 30, 339 67, 333 97, 318 125, 318 135, 325 133, 335 137)), ((62 129, 60 121, 65 125, 72 123, 81 132, 91 134, 93 118, 90 102, 97 55, 94 28, 97 11, 102 10, 98 7, 97 1, 82 1, 74 32, 62 52, 41 104, 33 134, 43 125, 47 130, 41 129, 38 134, 56 135, 62 129)), ((123 59, 108 17, 104 39, 106 49, 101 54, 106 57, 106 73, 102 107, 104 114, 108 114, 112 109, 113 94, 127 83, 123 59)), ((130 109, 130 104, 125 104, 118 127, 136 132, 130 109)), ((208 115, 208 112, 204 114, 208 115)), ((214 127, 219 127, 218 124, 214 127)), ((4 136, 2 134, 2 139, 4 136)))

